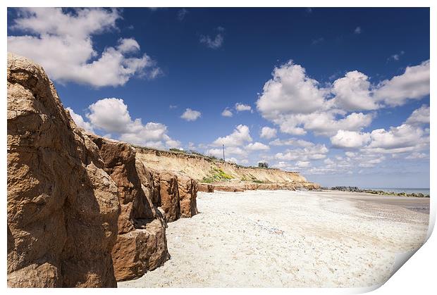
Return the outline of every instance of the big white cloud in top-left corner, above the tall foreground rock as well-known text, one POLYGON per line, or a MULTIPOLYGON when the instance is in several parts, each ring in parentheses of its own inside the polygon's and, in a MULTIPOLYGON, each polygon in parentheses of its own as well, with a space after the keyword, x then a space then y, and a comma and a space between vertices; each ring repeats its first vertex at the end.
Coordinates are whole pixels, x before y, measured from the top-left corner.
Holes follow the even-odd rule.
POLYGON ((140 54, 133 38, 119 39, 116 46, 97 52, 92 37, 117 29, 116 20, 121 18, 117 9, 20 8, 19 12, 11 30, 29 34, 8 36, 8 51, 37 61, 52 80, 120 86, 135 75, 153 78, 161 73, 152 58, 140 54))

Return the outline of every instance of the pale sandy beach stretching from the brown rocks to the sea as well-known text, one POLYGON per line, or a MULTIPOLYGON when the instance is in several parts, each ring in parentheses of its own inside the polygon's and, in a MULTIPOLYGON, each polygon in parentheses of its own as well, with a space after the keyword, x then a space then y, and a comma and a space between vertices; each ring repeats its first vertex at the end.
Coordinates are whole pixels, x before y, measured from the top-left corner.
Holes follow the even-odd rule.
POLYGON ((372 199, 345 192, 199 193, 199 215, 168 224, 171 260, 118 287, 381 284, 395 253, 424 243, 429 215, 372 199))

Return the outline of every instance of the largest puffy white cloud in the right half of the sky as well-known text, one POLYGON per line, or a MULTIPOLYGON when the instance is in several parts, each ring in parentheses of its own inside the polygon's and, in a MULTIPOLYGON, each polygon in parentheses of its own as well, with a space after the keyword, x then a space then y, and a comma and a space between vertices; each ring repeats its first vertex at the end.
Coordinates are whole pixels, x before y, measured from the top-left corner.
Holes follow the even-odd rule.
MULTIPOLYGON (((349 113, 327 99, 331 90, 307 76, 301 65, 292 61, 273 70, 257 100, 261 115, 280 127, 281 132, 332 136, 338 130, 359 131, 370 125, 371 114, 349 113)), ((341 84, 341 83, 340 83, 341 84)))

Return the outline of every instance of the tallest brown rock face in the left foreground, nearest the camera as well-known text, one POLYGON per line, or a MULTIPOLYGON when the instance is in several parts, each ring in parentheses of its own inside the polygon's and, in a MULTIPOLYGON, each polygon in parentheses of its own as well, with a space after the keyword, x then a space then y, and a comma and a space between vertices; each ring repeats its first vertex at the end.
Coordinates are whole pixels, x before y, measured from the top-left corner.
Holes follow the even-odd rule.
POLYGON ((9 287, 116 287, 117 186, 44 70, 8 54, 9 287))

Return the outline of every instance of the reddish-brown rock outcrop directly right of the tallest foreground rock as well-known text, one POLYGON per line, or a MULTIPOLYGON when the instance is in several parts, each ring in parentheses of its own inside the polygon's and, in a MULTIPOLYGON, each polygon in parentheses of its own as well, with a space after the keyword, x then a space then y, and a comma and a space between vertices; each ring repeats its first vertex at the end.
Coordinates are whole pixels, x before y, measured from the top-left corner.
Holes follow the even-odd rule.
POLYGON ((104 170, 118 187, 121 214, 112 250, 116 279, 140 277, 169 258, 166 221, 154 205, 152 174, 135 161, 135 148, 129 144, 89 136, 99 148, 104 170))

